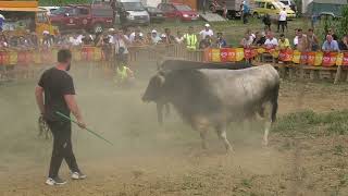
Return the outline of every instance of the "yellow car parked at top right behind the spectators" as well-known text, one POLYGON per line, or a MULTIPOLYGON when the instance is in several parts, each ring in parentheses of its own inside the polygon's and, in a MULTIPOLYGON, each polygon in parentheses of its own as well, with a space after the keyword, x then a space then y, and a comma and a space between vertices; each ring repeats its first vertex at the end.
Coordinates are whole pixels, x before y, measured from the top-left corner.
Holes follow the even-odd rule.
MULTIPOLYGON (((284 3, 275 0, 256 0, 254 3, 256 5, 252 11, 254 17, 260 17, 268 13, 271 15, 271 19, 274 20, 277 19, 283 8, 286 8, 284 3)), ((286 8, 286 13, 289 20, 296 17, 296 13, 289 8, 286 8)))

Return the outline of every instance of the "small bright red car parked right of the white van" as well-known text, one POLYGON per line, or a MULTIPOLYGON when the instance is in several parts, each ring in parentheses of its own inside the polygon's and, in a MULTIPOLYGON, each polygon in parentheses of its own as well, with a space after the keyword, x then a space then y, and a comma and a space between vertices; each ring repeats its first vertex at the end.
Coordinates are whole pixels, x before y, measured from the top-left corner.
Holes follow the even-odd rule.
POLYGON ((190 7, 183 3, 160 3, 158 5, 164 16, 169 20, 176 21, 197 21, 199 20, 199 14, 194 11, 190 7))

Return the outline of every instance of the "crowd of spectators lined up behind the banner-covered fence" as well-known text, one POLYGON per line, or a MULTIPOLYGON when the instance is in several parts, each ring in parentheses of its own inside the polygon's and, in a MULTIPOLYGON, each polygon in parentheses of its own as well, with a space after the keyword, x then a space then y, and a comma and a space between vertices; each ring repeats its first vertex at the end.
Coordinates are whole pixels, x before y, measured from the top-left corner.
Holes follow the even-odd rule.
MULTIPOLYGON (((238 47, 264 47, 277 49, 296 49, 299 51, 344 51, 348 49, 348 36, 341 39, 337 37, 333 29, 328 29, 325 40, 320 41, 313 29, 303 32, 301 28, 295 30, 296 36, 290 41, 284 34, 278 37, 274 35, 270 28, 263 32, 252 33, 248 29, 239 41, 238 47)), ((232 47, 224 38, 223 33, 214 34, 209 24, 199 32, 194 27, 188 27, 186 33, 181 30, 174 35, 170 28, 164 28, 163 33, 157 29, 141 32, 139 27, 135 28, 110 28, 104 32, 91 35, 85 30, 73 34, 52 36, 48 30, 44 30, 41 36, 36 33, 17 35, 5 35, 0 33, 0 49, 49 49, 53 46, 60 47, 80 47, 97 46, 104 50, 104 53, 111 53, 112 48, 121 48, 127 52, 130 46, 149 46, 149 45, 171 45, 181 44, 187 46, 188 49, 206 49, 206 48, 226 48, 232 47)), ((236 47, 236 46, 233 46, 236 47)), ((117 53, 117 50, 115 50, 117 53)))

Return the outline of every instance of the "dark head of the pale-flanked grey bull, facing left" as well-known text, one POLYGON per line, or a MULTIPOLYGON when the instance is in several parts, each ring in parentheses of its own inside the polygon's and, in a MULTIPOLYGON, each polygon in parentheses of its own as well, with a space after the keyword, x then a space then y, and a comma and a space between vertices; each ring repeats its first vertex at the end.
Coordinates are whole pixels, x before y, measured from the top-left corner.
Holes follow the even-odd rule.
POLYGON ((158 102, 160 101, 162 95, 162 87, 165 83, 165 76, 163 72, 159 72, 157 75, 151 77, 148 87, 145 90, 145 94, 142 96, 142 101, 145 102, 150 102, 154 101, 158 102))

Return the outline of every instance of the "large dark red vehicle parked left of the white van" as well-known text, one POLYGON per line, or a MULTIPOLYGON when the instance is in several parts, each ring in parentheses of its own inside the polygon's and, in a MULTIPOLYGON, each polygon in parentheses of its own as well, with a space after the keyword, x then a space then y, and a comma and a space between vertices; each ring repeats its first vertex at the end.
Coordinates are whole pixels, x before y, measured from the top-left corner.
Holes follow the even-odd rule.
POLYGON ((113 27, 113 10, 107 5, 67 5, 53 11, 50 21, 60 30, 86 29, 94 33, 113 27))

